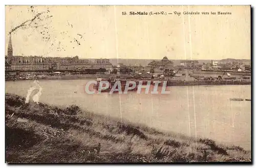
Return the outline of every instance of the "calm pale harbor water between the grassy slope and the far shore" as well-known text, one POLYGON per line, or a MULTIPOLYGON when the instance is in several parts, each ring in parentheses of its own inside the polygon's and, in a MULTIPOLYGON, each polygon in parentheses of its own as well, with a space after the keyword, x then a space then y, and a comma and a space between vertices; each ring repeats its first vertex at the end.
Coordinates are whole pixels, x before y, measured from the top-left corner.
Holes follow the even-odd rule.
MULTIPOLYGON (((206 137, 250 150, 251 85, 172 86, 170 94, 87 94, 89 80, 39 80, 40 102, 76 104, 94 113, 123 118, 163 131, 206 137), (75 92, 76 91, 76 92, 75 92)), ((6 81, 6 92, 26 97, 33 81, 6 81)))

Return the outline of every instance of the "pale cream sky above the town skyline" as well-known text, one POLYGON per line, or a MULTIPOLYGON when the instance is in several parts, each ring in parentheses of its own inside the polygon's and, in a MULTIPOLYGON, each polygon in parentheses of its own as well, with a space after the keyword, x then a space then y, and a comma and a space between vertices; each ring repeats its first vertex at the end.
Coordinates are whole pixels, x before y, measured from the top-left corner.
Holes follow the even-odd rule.
POLYGON ((171 60, 251 57, 250 6, 6 6, 6 55, 9 32, 39 12, 45 12, 41 20, 11 33, 14 56, 167 56, 171 60), (130 11, 173 14, 138 16, 130 15, 130 11), (200 14, 182 14, 186 11, 200 14), (231 15, 210 14, 218 11, 231 15))

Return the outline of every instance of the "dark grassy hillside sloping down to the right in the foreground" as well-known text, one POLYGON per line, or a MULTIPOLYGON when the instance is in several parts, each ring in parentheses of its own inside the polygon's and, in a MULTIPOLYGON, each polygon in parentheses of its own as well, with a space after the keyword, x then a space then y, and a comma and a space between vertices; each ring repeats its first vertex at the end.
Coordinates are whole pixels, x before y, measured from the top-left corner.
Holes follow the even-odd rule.
POLYGON ((251 161, 250 151, 118 119, 6 94, 6 161, 202 162, 251 161))

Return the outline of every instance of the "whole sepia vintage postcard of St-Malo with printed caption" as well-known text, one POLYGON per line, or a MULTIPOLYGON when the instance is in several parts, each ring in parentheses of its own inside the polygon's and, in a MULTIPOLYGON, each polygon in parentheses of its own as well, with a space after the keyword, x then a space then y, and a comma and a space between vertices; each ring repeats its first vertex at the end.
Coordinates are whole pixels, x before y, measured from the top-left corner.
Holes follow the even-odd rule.
POLYGON ((7 163, 251 163, 250 6, 6 6, 7 163))

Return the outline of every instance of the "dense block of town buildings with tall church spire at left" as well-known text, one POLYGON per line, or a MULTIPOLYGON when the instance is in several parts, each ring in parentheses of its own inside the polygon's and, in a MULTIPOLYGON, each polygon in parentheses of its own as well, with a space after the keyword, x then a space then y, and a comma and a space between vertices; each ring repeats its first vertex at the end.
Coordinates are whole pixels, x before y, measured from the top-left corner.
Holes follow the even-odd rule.
POLYGON ((8 43, 7 56, 5 57, 6 70, 20 71, 44 71, 44 70, 82 70, 112 68, 109 59, 96 59, 91 62, 88 59, 75 57, 42 57, 42 56, 13 56, 11 35, 8 43))

